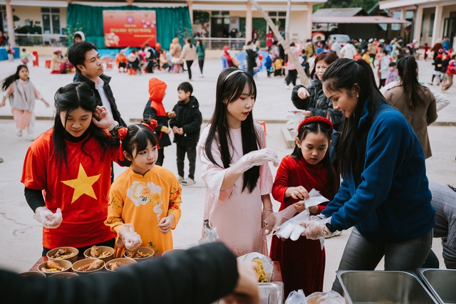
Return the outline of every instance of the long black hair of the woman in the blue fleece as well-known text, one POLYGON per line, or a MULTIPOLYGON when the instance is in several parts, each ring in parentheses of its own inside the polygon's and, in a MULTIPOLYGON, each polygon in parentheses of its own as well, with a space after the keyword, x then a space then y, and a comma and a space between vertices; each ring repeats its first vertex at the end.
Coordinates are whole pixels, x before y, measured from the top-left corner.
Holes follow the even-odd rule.
POLYGON ((338 59, 329 65, 323 74, 322 82, 323 88, 331 91, 343 90, 348 97, 353 97, 353 89, 357 91, 358 103, 355 112, 352 117, 343 121, 341 137, 336 144, 336 152, 339 159, 339 171, 344 174, 344 178, 350 178, 351 172, 354 182, 358 186, 364 167, 368 132, 380 105, 383 103, 389 105, 390 103, 375 85, 371 66, 362 59, 358 61, 349 58, 338 59), (366 103, 368 103, 368 117, 358 130, 358 123, 366 103), (361 137, 361 144, 358 149, 356 147, 357 136, 361 137))

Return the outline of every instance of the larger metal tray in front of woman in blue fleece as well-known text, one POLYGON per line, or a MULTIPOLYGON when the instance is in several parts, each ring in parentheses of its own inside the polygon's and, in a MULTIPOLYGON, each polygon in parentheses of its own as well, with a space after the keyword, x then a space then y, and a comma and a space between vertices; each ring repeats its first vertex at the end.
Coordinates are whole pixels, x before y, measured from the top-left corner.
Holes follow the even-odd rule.
POLYGON ((438 303, 408 271, 336 271, 348 304, 438 303))

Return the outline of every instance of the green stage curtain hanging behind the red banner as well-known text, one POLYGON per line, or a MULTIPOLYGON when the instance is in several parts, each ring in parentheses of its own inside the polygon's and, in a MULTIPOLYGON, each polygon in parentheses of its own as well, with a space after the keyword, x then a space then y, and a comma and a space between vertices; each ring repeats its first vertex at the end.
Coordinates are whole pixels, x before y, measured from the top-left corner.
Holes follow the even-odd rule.
POLYGON ((190 22, 190 14, 187 6, 162 8, 68 4, 66 15, 68 23, 68 45, 73 43, 73 33, 82 31, 87 41, 95 43, 98 48, 104 48, 103 10, 155 11, 157 18, 157 42, 162 45, 162 48, 169 48, 172 38, 179 38, 180 44, 183 45, 186 38, 192 37, 192 23, 190 22))

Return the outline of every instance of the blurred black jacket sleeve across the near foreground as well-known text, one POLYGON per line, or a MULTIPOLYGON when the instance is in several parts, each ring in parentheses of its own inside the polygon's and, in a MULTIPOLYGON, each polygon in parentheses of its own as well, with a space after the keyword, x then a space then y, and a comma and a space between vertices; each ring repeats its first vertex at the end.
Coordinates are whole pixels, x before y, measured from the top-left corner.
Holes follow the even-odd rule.
POLYGON ((0 270, 0 295, 1 303, 15 304, 209 304, 231 293, 238 279, 236 256, 217 242, 71 280, 0 270))

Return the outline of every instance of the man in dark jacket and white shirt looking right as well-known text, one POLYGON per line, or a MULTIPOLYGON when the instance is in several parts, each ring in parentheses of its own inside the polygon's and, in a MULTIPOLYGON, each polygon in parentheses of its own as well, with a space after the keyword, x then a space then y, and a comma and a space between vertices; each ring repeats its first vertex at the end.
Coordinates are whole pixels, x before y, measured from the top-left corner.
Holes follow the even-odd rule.
MULTIPOLYGON (((78 78, 76 82, 90 85, 95 93, 98 104, 105 106, 113 115, 116 125, 127 125, 120 117, 120 112, 115 103, 113 91, 110 88, 110 77, 103 75, 103 62, 95 44, 88 41, 74 43, 68 51, 68 61, 76 68, 78 78)), ((115 125, 112 127, 114 128, 115 125)), ((110 129, 110 128, 108 128, 110 129)))

